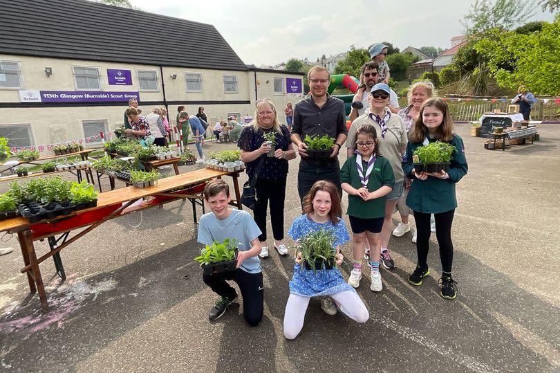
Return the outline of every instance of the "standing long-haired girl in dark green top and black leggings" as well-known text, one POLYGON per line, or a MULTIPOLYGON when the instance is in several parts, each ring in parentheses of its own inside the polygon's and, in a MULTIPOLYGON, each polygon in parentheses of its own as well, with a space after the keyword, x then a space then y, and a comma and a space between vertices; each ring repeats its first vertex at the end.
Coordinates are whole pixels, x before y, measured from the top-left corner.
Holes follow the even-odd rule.
POLYGON ((451 224, 457 199, 455 183, 467 174, 467 159, 463 140, 453 133, 453 120, 449 114, 447 103, 441 98, 430 98, 422 107, 409 134, 410 142, 407 145, 407 158, 404 162, 404 172, 416 179, 413 181, 407 197, 407 205, 414 212, 418 238, 416 251, 418 264, 409 276, 409 282, 420 286, 422 278, 429 275, 427 257, 430 238, 430 215, 436 219, 436 237, 440 246, 442 276, 440 278, 440 295, 446 299, 456 298, 456 282, 451 278, 453 264, 453 242, 451 242, 451 224), (425 149, 433 148, 431 154, 425 149), (449 147, 449 145, 452 147, 449 147), (424 147, 424 149, 422 149, 424 147), (454 149, 453 149, 454 147, 454 149), (420 152, 420 150, 423 150, 420 152), (443 149, 438 154, 438 149, 443 149), (416 155, 415 155, 416 153, 416 155), (421 154, 420 156, 418 154, 421 154), (427 161, 445 162, 445 155, 449 156, 447 170, 433 172, 416 172, 414 163, 427 161), (416 159, 418 158, 418 160, 416 159))

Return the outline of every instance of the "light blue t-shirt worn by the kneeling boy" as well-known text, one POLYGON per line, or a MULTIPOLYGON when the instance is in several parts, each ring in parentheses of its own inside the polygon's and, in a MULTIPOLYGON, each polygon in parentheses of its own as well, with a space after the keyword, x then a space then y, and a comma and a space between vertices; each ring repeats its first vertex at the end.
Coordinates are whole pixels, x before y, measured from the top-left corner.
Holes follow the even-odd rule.
MULTIPOLYGON (((232 210, 230 216, 223 220, 216 218, 214 212, 209 212, 200 217, 198 225, 198 242, 212 245, 214 241, 224 242, 225 239, 236 239, 239 251, 248 251, 251 241, 261 235, 261 230, 254 222, 249 212, 245 210, 232 210)), ((258 256, 248 257, 239 267, 248 273, 261 272, 261 260, 258 256)))

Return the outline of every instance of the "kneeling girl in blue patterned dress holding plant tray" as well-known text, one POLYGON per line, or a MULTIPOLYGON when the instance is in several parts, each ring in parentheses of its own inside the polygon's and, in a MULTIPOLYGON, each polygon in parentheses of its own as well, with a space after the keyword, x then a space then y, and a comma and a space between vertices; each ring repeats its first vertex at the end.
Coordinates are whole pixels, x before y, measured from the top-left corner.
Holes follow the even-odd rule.
POLYGON ((288 235, 301 244, 284 313, 284 336, 288 339, 296 338, 304 327, 312 297, 324 297, 321 308, 329 315, 335 315, 338 308, 356 322, 363 323, 369 318, 364 302, 353 287, 346 284, 340 271, 336 267, 327 269, 327 264, 333 261, 336 266, 342 264, 344 257, 340 246, 350 239, 344 220, 340 218, 342 210, 335 185, 324 180, 315 182, 304 199, 304 210, 304 215, 297 217, 288 230, 288 235), (326 258, 326 262, 319 262, 319 257, 326 258), (310 264, 315 266, 307 269, 310 264))

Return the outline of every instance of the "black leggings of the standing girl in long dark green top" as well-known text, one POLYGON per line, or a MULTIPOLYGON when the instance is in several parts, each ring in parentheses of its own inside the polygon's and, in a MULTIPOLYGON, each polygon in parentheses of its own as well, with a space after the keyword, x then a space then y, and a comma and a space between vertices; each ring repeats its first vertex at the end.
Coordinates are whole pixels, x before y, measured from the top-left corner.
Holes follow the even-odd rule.
MULTIPOLYGON (((455 209, 447 212, 433 214, 436 218, 436 237, 440 246, 440 258, 442 270, 451 273, 453 265, 453 242, 451 242, 451 224, 453 224, 453 216, 455 209)), ((416 252, 418 253, 418 265, 422 268, 428 268, 428 250, 430 242, 430 215, 424 212, 414 212, 414 220, 416 221, 416 252)))

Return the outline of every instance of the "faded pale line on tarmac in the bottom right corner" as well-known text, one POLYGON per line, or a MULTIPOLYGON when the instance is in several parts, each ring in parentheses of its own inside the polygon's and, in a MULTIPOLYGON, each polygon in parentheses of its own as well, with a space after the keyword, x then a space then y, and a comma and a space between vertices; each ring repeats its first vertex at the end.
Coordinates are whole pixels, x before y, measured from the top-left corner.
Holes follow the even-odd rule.
POLYGON ((511 318, 508 318, 496 311, 491 311, 490 313, 501 325, 503 325, 503 327, 505 327, 505 329, 507 329, 507 331, 510 331, 512 336, 518 340, 521 345, 527 347, 535 354, 543 356, 553 365, 560 367, 560 352, 557 349, 554 349, 550 343, 534 334, 533 331, 523 327, 523 325, 519 324, 519 322, 516 322, 515 320, 512 320, 511 318))

